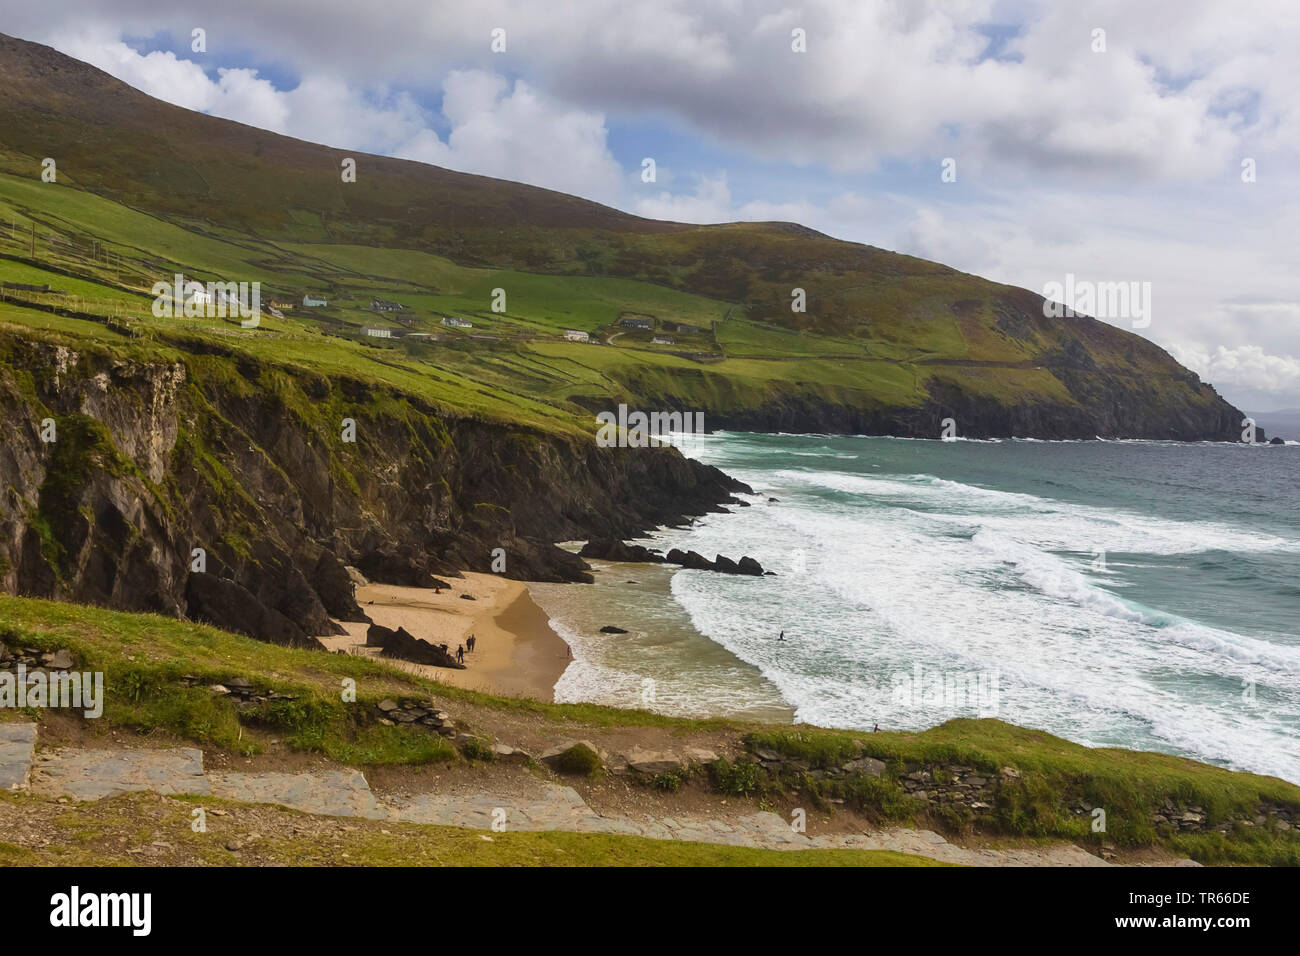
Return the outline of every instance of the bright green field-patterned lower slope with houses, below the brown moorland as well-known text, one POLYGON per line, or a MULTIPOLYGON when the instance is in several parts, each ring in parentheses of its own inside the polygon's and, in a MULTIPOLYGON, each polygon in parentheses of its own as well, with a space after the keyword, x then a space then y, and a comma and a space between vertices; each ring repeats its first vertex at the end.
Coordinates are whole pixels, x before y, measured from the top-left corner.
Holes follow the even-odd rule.
MULTIPOLYGON (((311 246, 195 237, 153 217, 125 209, 99 196, 51 183, 32 183, 0 174, 0 222, 16 220, 13 235, 0 228, 0 281, 48 284, 69 293, 66 304, 78 311, 130 317, 152 341, 178 334, 247 349, 251 354, 312 368, 321 373, 348 372, 395 385, 451 407, 546 427, 576 427, 586 418, 575 397, 653 398, 706 406, 719 411, 751 407, 779 393, 803 393, 849 405, 914 405, 924 393, 915 369, 880 359, 861 342, 792 334, 745 320, 720 320, 728 306, 712 299, 664 289, 649 282, 584 276, 536 276, 459 267, 424 252, 355 246, 311 246), (39 212, 38 212, 39 209, 39 212), (35 255, 23 237, 23 216, 36 216, 35 255), (91 234, 74 224, 94 224, 91 234), (17 238, 13 238, 13 237, 17 238), (49 237, 49 238, 47 238, 49 237), (110 260, 103 260, 107 250, 110 260), (96 258, 96 255, 99 258, 96 258), (326 268, 322 271, 321 264, 326 268), (48 265, 48 268, 42 268, 48 265), (374 269, 374 272, 369 272, 374 269), (64 273, 75 273, 79 278, 64 273), (264 316, 256 332, 233 321, 156 319, 150 312, 151 280, 183 272, 200 280, 222 274, 250 276, 263 282, 263 302, 299 300, 295 282, 317 278, 308 289, 328 286, 330 308, 295 308, 283 320, 264 316), (399 274, 400 273, 400 274, 399 274), (326 278, 320 278, 325 276, 326 278), (491 290, 507 290, 507 312, 489 311, 491 290), (322 334, 325 321, 360 326, 389 324, 368 310, 374 297, 389 298, 415 311, 415 328, 439 332, 448 341, 432 349, 377 349, 343 336, 322 334), (689 321, 711 334, 684 337, 682 345, 736 358, 701 365, 644 342, 628 347, 595 347, 564 342, 567 328, 599 338, 615 334, 624 312, 689 321), (481 330, 503 341, 472 342, 439 325, 442 315, 468 315, 481 330), (784 345, 784 350, 777 350, 784 345), (485 394, 485 392, 488 394, 485 394), (550 407, 519 402, 525 395, 550 407), (491 401, 497 398, 499 401, 491 401)), ((46 304, 58 297, 16 293, 46 304)), ((118 342, 87 323, 58 321, 0 302, 0 319, 40 328, 62 328, 77 336, 118 342)), ((333 326, 325 325, 333 330, 333 326)), ((623 338, 624 333, 620 336, 623 338)), ((1056 384, 1049 377, 1049 385, 1056 384)))

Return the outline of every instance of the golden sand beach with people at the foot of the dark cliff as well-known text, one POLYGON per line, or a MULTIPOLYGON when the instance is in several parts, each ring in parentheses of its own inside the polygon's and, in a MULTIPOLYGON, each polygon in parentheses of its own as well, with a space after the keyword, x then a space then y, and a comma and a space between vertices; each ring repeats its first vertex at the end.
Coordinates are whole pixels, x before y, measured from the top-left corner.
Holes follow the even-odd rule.
MULTIPOLYGON (((433 667, 385 658, 389 663, 433 680, 471 691, 533 697, 550 701, 555 682, 569 663, 568 645, 551 630, 521 581, 467 571, 441 594, 432 588, 368 584, 356 589, 356 601, 376 624, 410 633, 455 652, 474 635, 473 653, 465 652, 465 670, 433 667), (467 601, 462 594, 474 600, 467 601)), ((369 624, 339 622, 346 635, 321 637, 329 650, 378 656, 365 646, 369 624)))

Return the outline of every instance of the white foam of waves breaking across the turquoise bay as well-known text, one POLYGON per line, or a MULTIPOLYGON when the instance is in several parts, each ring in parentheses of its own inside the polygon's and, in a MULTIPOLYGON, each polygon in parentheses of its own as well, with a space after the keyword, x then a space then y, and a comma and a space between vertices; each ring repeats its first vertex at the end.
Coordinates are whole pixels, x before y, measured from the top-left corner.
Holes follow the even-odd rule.
MULTIPOLYGON (((757 667, 800 719, 923 728, 978 714, 896 700, 894 679, 916 666, 957 679, 996 674, 1005 721, 1300 780, 1294 636, 1236 632, 1179 606, 1152 606, 1140 576, 1148 567, 1176 572, 1170 555, 1268 558, 1300 550, 1296 540, 931 473, 876 475, 866 472, 875 462, 826 458, 858 440, 793 449, 764 441, 720 441, 706 459, 779 503, 711 515, 656 535, 655 545, 749 554, 777 572, 741 580, 680 571, 671 592, 701 633, 757 667), (755 467, 768 451, 784 467, 755 467), (794 451, 807 453, 794 459, 810 467, 796 467, 794 451), (819 470, 814 455, 836 470, 819 470), (1095 568, 1097 550, 1126 559, 1095 568)), ((602 685, 624 682, 571 667, 562 684, 573 688, 567 698, 595 700, 602 685)))

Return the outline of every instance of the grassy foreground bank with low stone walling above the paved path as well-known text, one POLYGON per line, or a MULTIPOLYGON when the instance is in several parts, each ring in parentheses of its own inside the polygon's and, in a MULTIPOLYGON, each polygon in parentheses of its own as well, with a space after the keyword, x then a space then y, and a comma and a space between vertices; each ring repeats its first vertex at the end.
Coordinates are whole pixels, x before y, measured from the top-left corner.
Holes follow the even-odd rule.
MULTIPOLYGON (((970 821, 926 816, 898 786, 907 766, 965 763, 996 774, 1017 767, 1022 780, 1005 788, 994 808, 993 832, 1096 843, 1091 817, 1067 804, 1087 800, 1106 808, 1105 839, 1124 847, 1161 845, 1213 862, 1300 862, 1300 834, 1269 827, 1240 827, 1228 834, 1169 834, 1149 822, 1164 800, 1204 808, 1208 823, 1254 813, 1261 803, 1300 810, 1300 787, 1275 778, 1232 773, 1196 761, 1121 749, 1089 749, 1041 731, 1000 721, 950 721, 920 732, 854 734, 815 727, 774 727, 729 721, 692 721, 649 711, 589 704, 566 705, 494 697, 460 691, 398 671, 376 661, 261 644, 211 627, 147 614, 0 596, 0 620, 8 640, 22 646, 70 648, 82 669, 105 674, 104 718, 87 727, 174 735, 209 749, 252 754, 269 736, 304 752, 356 766, 429 763, 462 757, 441 737, 410 727, 386 727, 373 706, 389 696, 429 696, 454 715, 474 714, 472 730, 491 736, 495 721, 526 718, 555 739, 606 730, 656 727, 675 737, 719 732, 745 737, 810 769, 838 766, 867 753, 884 760, 884 778, 850 777, 816 783, 802 774, 760 783, 737 763, 712 782, 720 792, 757 799, 801 790, 814 800, 842 799, 881 822, 926 823, 962 832, 970 821), (204 687, 178 683, 182 675, 220 682, 248 676, 264 689, 294 695, 294 701, 238 713, 229 698, 204 687), (356 682, 361 706, 341 702, 344 679, 356 682)), ((32 713, 31 717, 40 717, 32 713)))

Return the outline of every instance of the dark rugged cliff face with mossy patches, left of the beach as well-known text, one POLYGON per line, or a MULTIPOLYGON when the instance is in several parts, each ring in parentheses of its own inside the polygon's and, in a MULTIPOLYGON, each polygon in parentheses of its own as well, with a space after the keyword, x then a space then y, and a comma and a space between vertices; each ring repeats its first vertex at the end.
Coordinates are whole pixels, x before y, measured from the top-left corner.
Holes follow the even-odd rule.
POLYGON ((9 593, 312 645, 330 615, 364 619, 344 564, 430 584, 503 555, 510 578, 582 580, 552 542, 629 536, 744 489, 668 449, 598 449, 247 356, 0 349, 9 593))

